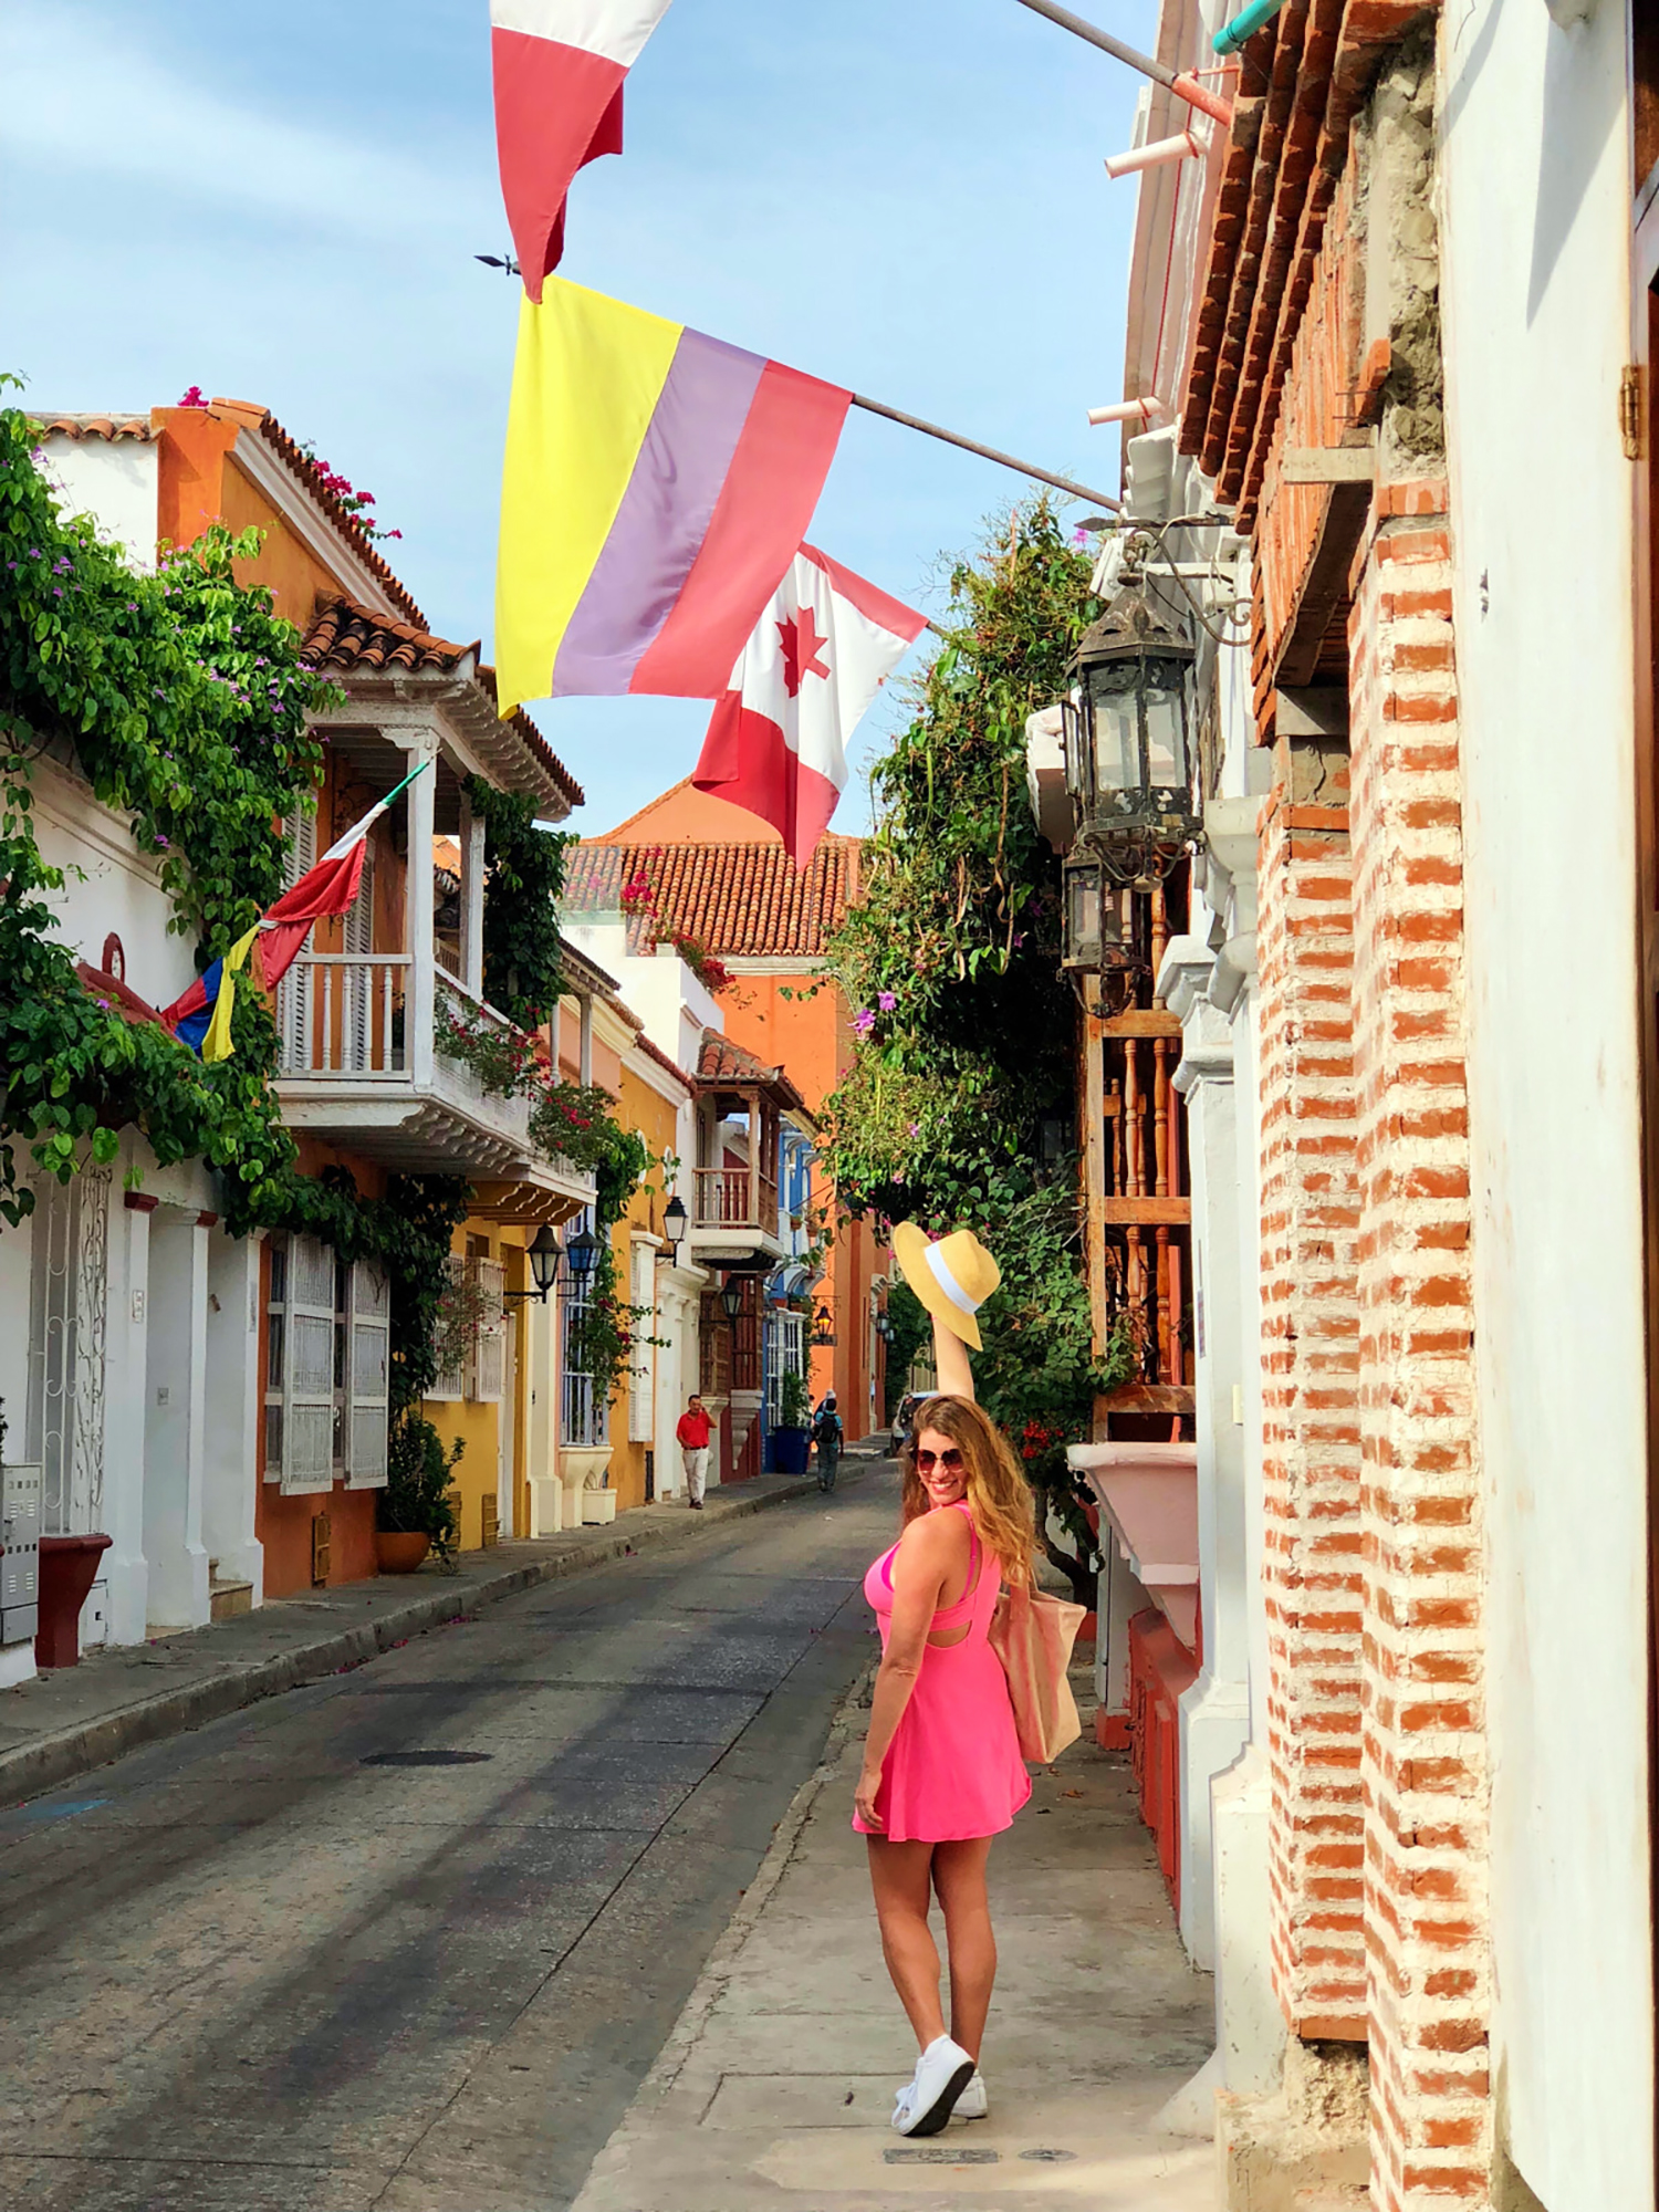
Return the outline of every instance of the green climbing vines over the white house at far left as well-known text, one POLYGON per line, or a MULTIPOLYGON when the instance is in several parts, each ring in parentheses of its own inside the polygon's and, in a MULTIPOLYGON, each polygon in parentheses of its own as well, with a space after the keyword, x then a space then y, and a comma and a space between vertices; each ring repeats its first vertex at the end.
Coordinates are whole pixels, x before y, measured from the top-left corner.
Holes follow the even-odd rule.
POLYGON ((272 827, 310 799, 321 745, 307 714, 341 697, 299 661, 299 633, 270 593, 234 582, 257 533, 210 529, 155 575, 135 575, 88 518, 64 518, 35 467, 33 429, 0 409, 0 1217, 33 1208, 15 1139, 66 1179, 111 1161, 137 1126, 157 1159, 206 1159, 228 1212, 274 1199, 292 1172, 268 1077, 276 1035, 239 995, 237 1053, 206 1068, 155 1026, 91 998, 55 936, 49 867, 33 836, 31 765, 51 752, 133 818, 157 863, 170 927, 206 962, 279 896, 272 827))

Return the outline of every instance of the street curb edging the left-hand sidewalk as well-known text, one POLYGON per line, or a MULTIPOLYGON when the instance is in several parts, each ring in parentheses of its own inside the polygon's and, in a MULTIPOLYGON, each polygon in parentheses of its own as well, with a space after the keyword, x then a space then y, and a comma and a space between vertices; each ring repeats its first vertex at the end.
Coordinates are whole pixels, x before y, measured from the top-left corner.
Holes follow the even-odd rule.
POLYGON ((582 1551, 564 1551, 546 1559, 511 1566, 484 1582, 465 1582, 460 1586, 445 1582, 431 1597, 411 1597, 409 1604, 398 1606, 394 1613, 383 1613, 374 1621, 336 1628, 312 1644, 301 1644, 268 1659, 228 1666, 208 1681, 159 1690, 155 1697, 124 1705, 119 1712, 106 1712, 95 1721, 80 1721, 58 1734, 40 1736, 35 1743, 20 1743, 15 1750, 0 1752, 0 1805, 20 1805, 44 1790, 58 1790, 80 1774, 91 1774, 93 1767, 106 1767, 111 1761, 124 1759, 146 1743, 161 1743, 192 1728, 206 1728, 208 1721, 219 1721, 228 1712, 241 1712, 243 1705, 257 1705, 265 1697, 281 1697, 283 1690, 299 1690, 310 1681, 323 1681, 327 1674, 345 1674, 367 1659, 376 1659, 394 1644, 425 1635, 429 1628, 442 1628, 447 1621, 456 1621, 482 1606, 500 1604, 504 1597, 518 1597, 520 1590, 533 1590, 546 1582, 564 1582, 571 1575, 606 1566, 630 1553, 639 1555, 641 1551, 661 1551, 664 1546, 697 1544, 717 1528, 723 1528, 726 1522, 748 1520, 750 1513, 763 1513, 768 1506, 816 1495, 818 1486, 814 1482, 792 1482, 752 1498, 732 1498, 730 1502, 721 1498, 721 1511, 710 1520, 688 1517, 684 1524, 677 1520, 650 1522, 637 1528, 630 1528, 626 1520, 613 1522, 604 1537, 591 1546, 582 1546, 582 1551))

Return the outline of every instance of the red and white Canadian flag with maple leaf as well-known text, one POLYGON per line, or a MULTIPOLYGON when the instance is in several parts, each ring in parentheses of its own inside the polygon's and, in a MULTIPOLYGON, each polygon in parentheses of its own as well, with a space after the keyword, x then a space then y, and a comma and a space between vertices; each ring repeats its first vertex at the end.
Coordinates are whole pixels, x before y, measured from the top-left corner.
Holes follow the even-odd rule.
POLYGON ((801 546, 714 703, 695 787, 772 823, 805 867, 847 781, 847 739, 925 626, 801 546))

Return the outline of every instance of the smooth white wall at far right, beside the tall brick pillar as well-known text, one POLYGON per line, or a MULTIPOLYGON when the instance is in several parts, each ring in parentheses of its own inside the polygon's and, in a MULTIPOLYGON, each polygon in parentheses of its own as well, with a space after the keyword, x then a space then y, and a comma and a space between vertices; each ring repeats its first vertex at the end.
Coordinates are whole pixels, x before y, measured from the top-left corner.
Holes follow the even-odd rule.
POLYGON ((1613 0, 1444 18, 1493 2088, 1548 2212, 1652 2183, 1624 69, 1613 0))

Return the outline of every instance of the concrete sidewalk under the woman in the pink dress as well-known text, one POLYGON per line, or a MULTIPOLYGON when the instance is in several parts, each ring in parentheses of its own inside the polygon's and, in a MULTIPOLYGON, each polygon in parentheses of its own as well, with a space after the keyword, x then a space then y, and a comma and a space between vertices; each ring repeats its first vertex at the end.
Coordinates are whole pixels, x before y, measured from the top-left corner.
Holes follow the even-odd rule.
POLYGON ((1152 2128, 1210 2055, 1210 1978, 1181 1951, 1128 1761, 1088 1741, 993 1849, 991 2117, 891 2132, 916 2046, 849 1827, 865 1719, 843 1708, 575 2212, 1212 2212, 1212 2146, 1152 2128))

